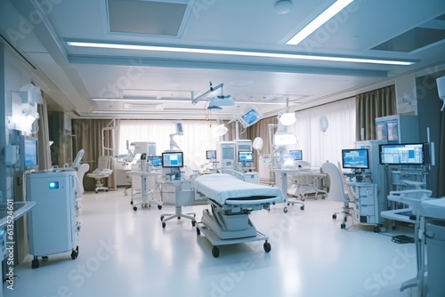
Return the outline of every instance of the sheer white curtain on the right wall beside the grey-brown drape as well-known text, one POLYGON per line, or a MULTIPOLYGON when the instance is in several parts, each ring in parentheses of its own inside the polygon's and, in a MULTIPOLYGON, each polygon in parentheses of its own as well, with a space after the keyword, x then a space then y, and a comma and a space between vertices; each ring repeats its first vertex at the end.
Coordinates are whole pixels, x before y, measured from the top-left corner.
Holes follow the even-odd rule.
MULTIPOLYGON (((302 149, 303 160, 314 167, 326 161, 335 163, 342 160, 342 148, 353 148, 355 138, 355 99, 348 98, 314 108, 295 112, 296 122, 287 126, 298 140, 286 150, 302 149), (328 129, 323 132, 320 118, 328 119, 328 129)), ((326 122, 324 122, 326 124, 326 122)))

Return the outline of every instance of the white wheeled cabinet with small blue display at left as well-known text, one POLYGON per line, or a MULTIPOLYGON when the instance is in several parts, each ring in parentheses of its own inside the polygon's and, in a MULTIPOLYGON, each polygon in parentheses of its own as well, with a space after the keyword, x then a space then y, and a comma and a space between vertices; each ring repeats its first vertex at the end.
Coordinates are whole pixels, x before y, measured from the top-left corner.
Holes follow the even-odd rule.
POLYGON ((38 268, 38 257, 54 253, 71 251, 71 259, 77 259, 76 171, 28 173, 26 178, 27 200, 36 202, 28 215, 31 267, 38 268))

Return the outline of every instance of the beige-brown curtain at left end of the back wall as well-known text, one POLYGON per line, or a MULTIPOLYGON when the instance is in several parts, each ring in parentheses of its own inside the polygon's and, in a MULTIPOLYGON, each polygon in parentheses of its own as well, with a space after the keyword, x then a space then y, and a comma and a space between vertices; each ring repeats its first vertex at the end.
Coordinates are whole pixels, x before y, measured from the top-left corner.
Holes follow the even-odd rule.
MULTIPOLYGON (((97 168, 97 159, 102 155, 102 129, 109 126, 109 122, 109 119, 74 119, 72 121, 72 130, 76 140, 75 151, 79 151, 82 148, 85 150, 82 163, 88 163, 90 165, 89 173, 97 168)), ((104 133, 103 143, 105 147, 114 148, 115 141, 112 139, 113 137, 111 135, 111 133, 104 133)), ((105 155, 107 154, 108 153, 106 152, 105 155)), ((85 178, 85 190, 94 190, 95 182, 94 179, 85 178)), ((106 186, 110 189, 116 188, 114 172, 106 181, 106 186)))

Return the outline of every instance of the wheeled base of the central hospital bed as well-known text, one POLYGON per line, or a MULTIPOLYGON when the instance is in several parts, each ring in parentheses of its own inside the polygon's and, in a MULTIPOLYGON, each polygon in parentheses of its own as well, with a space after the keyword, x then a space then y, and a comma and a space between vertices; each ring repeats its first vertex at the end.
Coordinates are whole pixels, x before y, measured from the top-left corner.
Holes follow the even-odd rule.
POLYGON ((243 244, 247 242, 253 242, 253 241, 259 241, 259 240, 265 240, 263 248, 264 252, 269 253, 271 252, 271 244, 267 242, 269 237, 266 237, 263 233, 256 231, 256 235, 254 237, 242 237, 242 238, 233 238, 233 239, 220 239, 214 234, 214 231, 209 229, 204 223, 198 222, 197 223, 197 229, 196 229, 197 235, 199 236, 201 232, 204 234, 205 237, 207 237, 208 241, 213 245, 212 247, 212 255, 214 258, 218 258, 220 255, 220 250, 218 248, 218 245, 235 245, 235 244, 243 244))

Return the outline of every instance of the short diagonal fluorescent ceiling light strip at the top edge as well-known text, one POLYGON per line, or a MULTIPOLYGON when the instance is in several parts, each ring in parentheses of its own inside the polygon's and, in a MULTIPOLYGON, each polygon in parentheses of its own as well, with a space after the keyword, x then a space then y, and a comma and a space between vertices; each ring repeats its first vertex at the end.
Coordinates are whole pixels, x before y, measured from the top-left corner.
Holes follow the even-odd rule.
POLYGON ((323 26, 328 20, 334 17, 338 12, 351 4, 353 0, 338 0, 336 3, 330 5, 328 9, 321 12, 320 15, 312 20, 306 27, 299 31, 295 36, 290 38, 286 44, 296 45, 301 43, 307 36, 310 36, 316 29, 323 26))

